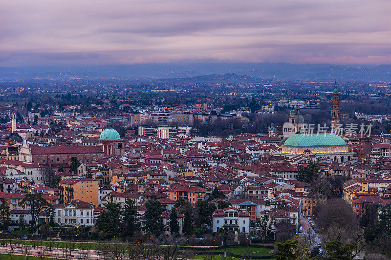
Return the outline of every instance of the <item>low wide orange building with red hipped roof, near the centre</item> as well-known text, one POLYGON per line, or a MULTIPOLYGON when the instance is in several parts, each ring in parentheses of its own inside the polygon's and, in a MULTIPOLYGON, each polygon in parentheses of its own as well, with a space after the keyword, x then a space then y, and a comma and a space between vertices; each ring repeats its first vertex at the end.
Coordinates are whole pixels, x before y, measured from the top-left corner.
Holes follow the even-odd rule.
POLYGON ((178 186, 170 187, 165 193, 169 193, 170 200, 189 200, 192 203, 197 202, 197 200, 205 200, 206 189, 198 186, 178 186))

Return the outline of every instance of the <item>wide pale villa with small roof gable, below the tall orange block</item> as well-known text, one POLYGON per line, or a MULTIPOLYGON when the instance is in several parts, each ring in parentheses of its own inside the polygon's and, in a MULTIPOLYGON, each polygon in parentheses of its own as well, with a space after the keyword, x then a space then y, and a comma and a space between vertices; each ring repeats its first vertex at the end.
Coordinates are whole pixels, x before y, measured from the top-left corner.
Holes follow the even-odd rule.
POLYGON ((72 200, 66 204, 57 204, 53 206, 55 208, 54 222, 59 225, 95 225, 95 207, 90 203, 81 200, 72 200))

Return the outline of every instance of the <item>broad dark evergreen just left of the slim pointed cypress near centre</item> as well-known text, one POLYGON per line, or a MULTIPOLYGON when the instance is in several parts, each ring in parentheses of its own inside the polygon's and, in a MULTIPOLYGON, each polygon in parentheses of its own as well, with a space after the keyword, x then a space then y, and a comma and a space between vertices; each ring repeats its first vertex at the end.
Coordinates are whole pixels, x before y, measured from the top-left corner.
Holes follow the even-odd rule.
POLYGON ((145 203, 145 207, 147 210, 144 215, 144 220, 147 233, 160 236, 164 232, 163 210, 160 202, 157 200, 148 200, 145 203))

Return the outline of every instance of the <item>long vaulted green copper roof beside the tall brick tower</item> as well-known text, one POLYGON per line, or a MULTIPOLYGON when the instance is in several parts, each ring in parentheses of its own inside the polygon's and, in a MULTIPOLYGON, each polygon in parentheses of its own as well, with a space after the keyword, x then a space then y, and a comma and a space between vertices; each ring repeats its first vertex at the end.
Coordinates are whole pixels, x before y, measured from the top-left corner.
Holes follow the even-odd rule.
POLYGON ((296 134, 284 142, 284 146, 310 147, 310 146, 337 146, 346 145, 342 137, 330 133, 296 134))

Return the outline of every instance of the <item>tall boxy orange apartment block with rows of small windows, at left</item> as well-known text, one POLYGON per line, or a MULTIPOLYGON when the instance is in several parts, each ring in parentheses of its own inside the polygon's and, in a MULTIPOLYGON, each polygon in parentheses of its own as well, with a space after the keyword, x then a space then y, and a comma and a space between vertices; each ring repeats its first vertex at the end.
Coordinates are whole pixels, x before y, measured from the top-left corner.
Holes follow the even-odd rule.
POLYGON ((92 179, 66 179, 59 182, 60 203, 65 204, 72 200, 82 200, 98 205, 99 181, 92 179))

